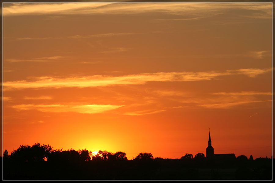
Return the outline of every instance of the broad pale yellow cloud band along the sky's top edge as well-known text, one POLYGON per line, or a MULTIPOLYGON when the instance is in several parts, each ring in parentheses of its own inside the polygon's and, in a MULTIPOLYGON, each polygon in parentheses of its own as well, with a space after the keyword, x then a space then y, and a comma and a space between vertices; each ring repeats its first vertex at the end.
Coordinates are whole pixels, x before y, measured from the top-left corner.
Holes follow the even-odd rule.
POLYGON ((13 4, 4 6, 4 16, 24 14, 140 14, 165 13, 184 18, 204 18, 226 13, 230 9, 250 10, 249 18, 271 18, 271 4, 219 4, 219 3, 59 3, 13 4))

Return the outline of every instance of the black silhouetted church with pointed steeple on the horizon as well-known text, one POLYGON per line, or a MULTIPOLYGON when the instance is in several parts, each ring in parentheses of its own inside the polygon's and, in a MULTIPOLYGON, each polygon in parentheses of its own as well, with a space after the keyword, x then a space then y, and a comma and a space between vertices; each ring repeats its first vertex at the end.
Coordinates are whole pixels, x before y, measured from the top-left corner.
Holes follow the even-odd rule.
POLYGON ((232 153, 232 154, 214 154, 214 148, 211 145, 211 137, 210 137, 210 132, 209 132, 208 147, 206 148, 206 158, 224 161, 224 160, 236 159, 236 156, 234 153, 232 153))

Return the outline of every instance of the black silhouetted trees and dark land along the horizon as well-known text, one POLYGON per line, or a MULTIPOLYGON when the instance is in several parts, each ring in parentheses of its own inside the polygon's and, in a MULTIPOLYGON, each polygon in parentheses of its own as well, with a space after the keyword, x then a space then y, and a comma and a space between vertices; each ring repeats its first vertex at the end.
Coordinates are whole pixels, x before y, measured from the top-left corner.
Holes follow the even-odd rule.
MULTIPOLYGON (((36 143, 20 145, 3 159, 4 179, 271 179, 271 159, 238 156, 235 160, 208 160, 203 153, 194 157, 185 154, 180 159, 154 158, 151 153, 139 153, 128 160, 125 152, 86 149, 53 149, 36 143)), ((274 159, 273 159, 274 161, 274 159)), ((274 164, 274 162, 273 162, 274 164)))

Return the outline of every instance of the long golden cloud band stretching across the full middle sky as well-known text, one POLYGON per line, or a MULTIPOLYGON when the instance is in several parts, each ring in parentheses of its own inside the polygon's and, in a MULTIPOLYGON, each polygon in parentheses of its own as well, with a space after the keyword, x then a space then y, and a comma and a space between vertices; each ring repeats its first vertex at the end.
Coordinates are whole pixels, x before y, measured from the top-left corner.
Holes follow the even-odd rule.
POLYGON ((125 76, 103 76, 94 75, 86 77, 42 77, 36 81, 7 81, 4 83, 6 90, 23 89, 23 88, 61 88, 61 87, 99 87, 110 85, 125 84, 145 84, 150 81, 203 81, 211 80, 219 76, 228 75, 247 75, 248 77, 256 77, 259 74, 270 72, 271 69, 239 69, 226 70, 225 72, 160 72, 160 73, 144 73, 132 74, 125 76))

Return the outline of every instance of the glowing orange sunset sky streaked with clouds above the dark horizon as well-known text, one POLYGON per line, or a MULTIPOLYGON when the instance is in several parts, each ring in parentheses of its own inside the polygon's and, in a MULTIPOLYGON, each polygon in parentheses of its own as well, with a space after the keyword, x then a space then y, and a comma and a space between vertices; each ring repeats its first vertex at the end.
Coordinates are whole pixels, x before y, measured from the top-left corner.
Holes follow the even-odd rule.
POLYGON ((4 3, 3 150, 272 155, 271 3, 4 3))

